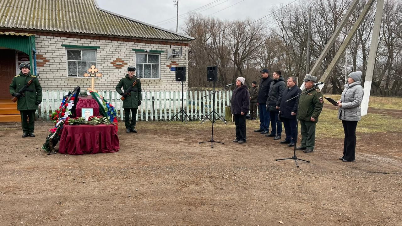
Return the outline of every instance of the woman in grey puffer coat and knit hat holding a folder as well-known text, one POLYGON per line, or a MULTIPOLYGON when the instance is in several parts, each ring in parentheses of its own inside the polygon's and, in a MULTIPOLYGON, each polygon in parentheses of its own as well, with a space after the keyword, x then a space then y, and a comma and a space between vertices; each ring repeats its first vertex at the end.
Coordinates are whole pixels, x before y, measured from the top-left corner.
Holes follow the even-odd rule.
POLYGON ((348 84, 338 101, 338 119, 342 120, 345 140, 343 141, 343 156, 339 158, 343 162, 355 160, 356 153, 356 126, 361 119, 360 105, 363 99, 363 87, 361 87, 361 71, 349 74, 348 84))

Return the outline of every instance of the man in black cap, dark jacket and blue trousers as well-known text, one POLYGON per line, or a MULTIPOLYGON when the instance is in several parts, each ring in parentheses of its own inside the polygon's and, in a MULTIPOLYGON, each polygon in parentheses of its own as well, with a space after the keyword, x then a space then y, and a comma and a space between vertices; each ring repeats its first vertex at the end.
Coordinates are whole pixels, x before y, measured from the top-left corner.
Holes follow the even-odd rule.
POLYGON ((264 68, 260 71, 261 73, 261 82, 258 88, 258 97, 257 97, 257 105, 259 106, 260 113, 260 128, 255 129, 254 132, 261 132, 261 134, 269 133, 269 112, 265 106, 267 102, 269 86, 271 86, 272 78, 269 78, 268 69, 264 68))

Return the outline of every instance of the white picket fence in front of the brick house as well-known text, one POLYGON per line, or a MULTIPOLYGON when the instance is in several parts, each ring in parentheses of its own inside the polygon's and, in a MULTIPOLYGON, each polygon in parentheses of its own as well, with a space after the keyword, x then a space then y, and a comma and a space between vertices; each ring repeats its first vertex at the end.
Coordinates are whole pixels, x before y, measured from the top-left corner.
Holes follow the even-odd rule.
MULTIPOLYGON (((66 91, 47 90, 43 92, 43 100, 39 105, 39 119, 50 121, 49 115, 58 109, 66 91)), ((120 120, 123 119, 123 101, 116 91, 98 91, 104 99, 108 100, 116 109, 120 120)), ((230 105, 232 91, 226 90, 215 94, 215 103, 212 103, 212 91, 185 91, 183 92, 183 108, 191 120, 202 120, 215 111, 225 117, 225 106, 230 105), (206 95, 209 95, 205 97, 206 95)), ((89 93, 88 93, 89 94, 89 93)), ((181 91, 142 91, 142 104, 138 108, 138 121, 168 121, 181 109, 181 91)), ((180 118, 181 115, 179 114, 180 118)), ((187 118, 188 119, 188 118, 187 118)), ((178 120, 175 117, 174 120, 178 120)))

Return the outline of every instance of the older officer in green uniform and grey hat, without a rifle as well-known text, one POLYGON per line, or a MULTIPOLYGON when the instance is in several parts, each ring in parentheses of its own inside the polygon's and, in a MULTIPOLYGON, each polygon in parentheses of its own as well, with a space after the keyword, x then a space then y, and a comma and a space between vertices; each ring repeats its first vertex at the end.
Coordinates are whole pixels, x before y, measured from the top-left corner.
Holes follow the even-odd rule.
MULTIPOLYGON (((306 74, 304 77, 304 87, 306 90, 313 88, 317 77, 306 74)), ((322 111, 324 100, 322 93, 318 87, 304 93, 299 98, 299 106, 297 108, 297 119, 300 121, 301 127, 301 145, 297 150, 310 153, 314 150, 316 140, 316 123, 318 116, 322 111)))

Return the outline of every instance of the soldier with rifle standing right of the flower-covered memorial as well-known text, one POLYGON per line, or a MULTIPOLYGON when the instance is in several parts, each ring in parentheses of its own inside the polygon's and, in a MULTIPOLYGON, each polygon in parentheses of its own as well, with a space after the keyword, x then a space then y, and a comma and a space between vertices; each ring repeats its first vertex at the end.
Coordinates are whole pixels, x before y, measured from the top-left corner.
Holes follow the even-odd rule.
MULTIPOLYGON (((127 74, 124 78, 122 78, 116 86, 116 91, 120 95, 124 95, 124 92, 132 86, 133 82, 137 79, 135 77, 135 67, 128 67, 127 74), (121 87, 123 87, 123 91, 121 91, 121 87)), ((134 132, 135 124, 137 122, 137 110, 138 106, 141 105, 142 100, 142 92, 141 92, 141 82, 138 80, 137 84, 131 89, 131 95, 127 95, 123 101, 123 109, 124 109, 124 125, 126 127, 126 133, 134 132), (130 122, 130 111, 131 111, 131 122, 130 122)))

